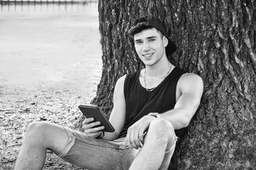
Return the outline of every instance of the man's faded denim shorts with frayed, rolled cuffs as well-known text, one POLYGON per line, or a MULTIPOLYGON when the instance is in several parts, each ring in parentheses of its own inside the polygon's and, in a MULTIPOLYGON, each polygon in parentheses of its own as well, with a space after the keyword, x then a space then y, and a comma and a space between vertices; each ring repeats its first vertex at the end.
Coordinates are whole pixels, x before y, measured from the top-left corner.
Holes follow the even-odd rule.
MULTIPOLYGON (((68 142, 58 157, 85 169, 129 169, 140 151, 140 149, 129 148, 124 145, 125 138, 113 141, 97 140, 87 137, 85 133, 78 130, 63 128, 68 134, 68 142)), ((176 142, 166 149, 161 169, 168 168, 175 145, 176 142)))

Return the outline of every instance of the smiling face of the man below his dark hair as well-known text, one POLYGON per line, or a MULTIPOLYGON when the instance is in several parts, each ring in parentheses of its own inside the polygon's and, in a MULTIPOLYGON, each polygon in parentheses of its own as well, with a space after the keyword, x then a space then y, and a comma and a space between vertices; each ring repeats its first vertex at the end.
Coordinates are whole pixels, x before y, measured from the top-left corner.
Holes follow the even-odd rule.
POLYGON ((161 34, 156 28, 151 28, 135 34, 134 44, 142 62, 147 66, 152 66, 166 55, 165 47, 168 40, 166 37, 161 38, 161 34))

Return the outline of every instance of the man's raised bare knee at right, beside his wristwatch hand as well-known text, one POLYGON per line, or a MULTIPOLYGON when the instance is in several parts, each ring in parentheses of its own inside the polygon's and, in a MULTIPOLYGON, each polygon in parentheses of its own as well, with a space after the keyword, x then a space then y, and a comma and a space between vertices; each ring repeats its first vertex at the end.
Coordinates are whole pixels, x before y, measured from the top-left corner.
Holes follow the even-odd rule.
POLYGON ((154 119, 149 125, 149 130, 154 133, 156 140, 160 142, 174 143, 174 140, 176 140, 173 125, 163 118, 154 119))

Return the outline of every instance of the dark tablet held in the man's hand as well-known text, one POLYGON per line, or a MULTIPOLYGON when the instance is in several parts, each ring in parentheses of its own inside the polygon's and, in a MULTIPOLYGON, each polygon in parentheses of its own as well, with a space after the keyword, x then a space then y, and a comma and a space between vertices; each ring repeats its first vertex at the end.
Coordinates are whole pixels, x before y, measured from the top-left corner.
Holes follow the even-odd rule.
POLYGON ((95 122, 100 122, 100 125, 95 126, 95 128, 98 126, 104 126, 104 132, 114 132, 114 128, 110 121, 107 120, 106 116, 104 113, 102 113, 98 106, 80 105, 78 108, 82 114, 85 115, 85 118, 94 118, 95 122))

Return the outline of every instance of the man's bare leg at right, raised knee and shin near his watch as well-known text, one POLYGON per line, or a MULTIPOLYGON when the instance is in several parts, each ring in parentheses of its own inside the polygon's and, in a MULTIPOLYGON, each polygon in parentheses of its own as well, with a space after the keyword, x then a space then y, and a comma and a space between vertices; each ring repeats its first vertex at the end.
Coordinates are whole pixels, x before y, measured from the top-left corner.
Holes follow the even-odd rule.
MULTIPOLYGON (((146 142, 132 162, 129 170, 159 169, 167 147, 171 147, 176 140, 174 128, 164 119, 155 119, 149 126, 146 142)), ((169 162, 171 157, 169 157, 169 162)))

